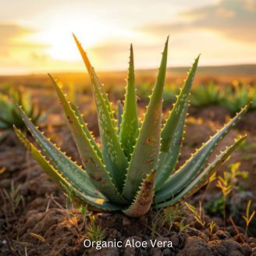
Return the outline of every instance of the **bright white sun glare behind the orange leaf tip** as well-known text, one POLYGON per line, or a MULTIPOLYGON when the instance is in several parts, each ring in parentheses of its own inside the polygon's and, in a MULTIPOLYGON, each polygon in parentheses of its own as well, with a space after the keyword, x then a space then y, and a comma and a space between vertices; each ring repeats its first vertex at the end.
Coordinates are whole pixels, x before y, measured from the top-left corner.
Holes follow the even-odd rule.
POLYGON ((72 33, 76 34, 85 49, 104 44, 106 38, 124 35, 128 32, 109 23, 98 20, 56 20, 52 26, 34 34, 33 41, 46 44, 44 53, 51 59, 74 62, 80 60, 72 33))

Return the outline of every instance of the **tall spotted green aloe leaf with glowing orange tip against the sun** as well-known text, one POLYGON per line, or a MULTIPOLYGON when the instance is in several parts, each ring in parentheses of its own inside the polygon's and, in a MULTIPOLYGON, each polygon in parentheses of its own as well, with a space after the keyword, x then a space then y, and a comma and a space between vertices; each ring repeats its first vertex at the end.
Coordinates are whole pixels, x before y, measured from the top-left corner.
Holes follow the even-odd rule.
POLYGON ((127 169, 128 162, 116 134, 116 123, 113 121, 113 115, 110 110, 110 105, 108 104, 109 101, 107 96, 94 69, 91 67, 91 63, 89 62, 86 53, 77 40, 76 44, 91 76, 91 88, 97 107, 99 130, 101 133, 102 158, 115 181, 117 189, 121 192, 126 176, 126 173, 123 170, 127 169))

